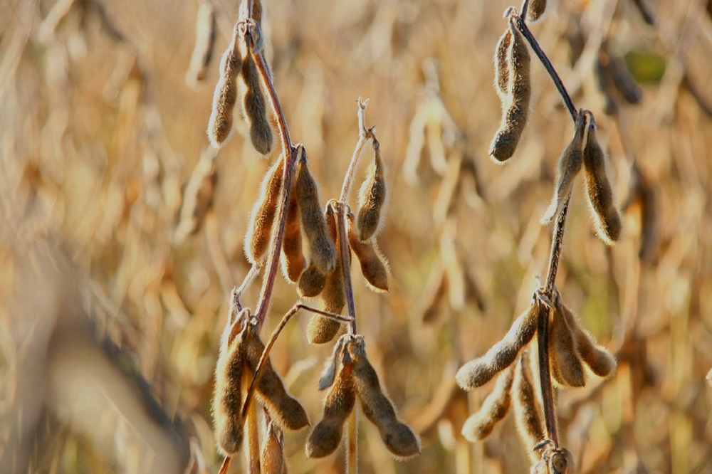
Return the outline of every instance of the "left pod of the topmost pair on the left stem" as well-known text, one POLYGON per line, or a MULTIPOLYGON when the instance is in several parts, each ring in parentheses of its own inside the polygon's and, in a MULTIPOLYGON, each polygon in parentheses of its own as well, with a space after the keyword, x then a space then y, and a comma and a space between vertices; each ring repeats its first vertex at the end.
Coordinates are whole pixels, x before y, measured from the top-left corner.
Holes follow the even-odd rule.
POLYGON ((237 77, 242 70, 238 28, 232 33, 230 46, 220 59, 220 78, 215 85, 213 108, 208 121, 208 138, 215 148, 222 146, 232 133, 233 111, 237 102, 237 77))

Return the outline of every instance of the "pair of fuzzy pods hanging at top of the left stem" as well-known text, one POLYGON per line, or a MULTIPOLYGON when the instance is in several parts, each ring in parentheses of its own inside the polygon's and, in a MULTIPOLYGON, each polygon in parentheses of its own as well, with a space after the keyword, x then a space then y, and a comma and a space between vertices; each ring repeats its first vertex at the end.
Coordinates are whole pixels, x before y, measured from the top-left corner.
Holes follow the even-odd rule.
MULTIPOLYGON (((246 1, 241 4, 241 19, 246 19, 246 1)), ((215 86, 213 107, 208 122, 208 137, 215 148, 221 147, 231 136, 234 109, 238 97, 243 118, 248 126, 253 147, 268 155, 273 147, 273 131, 257 59, 263 61, 266 73, 269 66, 261 54, 262 4, 253 1, 251 19, 235 24, 232 40, 220 61, 220 78, 215 86)))

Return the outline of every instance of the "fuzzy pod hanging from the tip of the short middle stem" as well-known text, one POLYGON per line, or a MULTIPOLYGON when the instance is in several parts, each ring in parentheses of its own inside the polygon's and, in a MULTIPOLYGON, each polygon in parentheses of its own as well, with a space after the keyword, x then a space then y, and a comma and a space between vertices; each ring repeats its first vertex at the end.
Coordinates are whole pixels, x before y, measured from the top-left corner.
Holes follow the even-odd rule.
POLYGON ((381 145, 375 138, 373 152, 373 163, 358 194, 356 236, 362 242, 369 240, 381 230, 385 214, 384 204, 388 194, 386 170, 381 159, 381 145))

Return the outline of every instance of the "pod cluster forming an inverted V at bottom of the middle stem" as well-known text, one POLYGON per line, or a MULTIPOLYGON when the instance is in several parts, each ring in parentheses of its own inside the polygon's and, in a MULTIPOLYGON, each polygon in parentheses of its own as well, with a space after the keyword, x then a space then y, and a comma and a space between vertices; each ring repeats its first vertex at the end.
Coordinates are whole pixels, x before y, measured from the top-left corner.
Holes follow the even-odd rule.
POLYGON ((344 335, 339 339, 320 379, 320 388, 328 390, 324 415, 307 441, 308 458, 320 458, 338 448, 344 423, 356 399, 395 458, 405 459, 420 453, 419 438, 399 421, 392 401, 383 393, 378 375, 367 358, 362 336, 344 335))

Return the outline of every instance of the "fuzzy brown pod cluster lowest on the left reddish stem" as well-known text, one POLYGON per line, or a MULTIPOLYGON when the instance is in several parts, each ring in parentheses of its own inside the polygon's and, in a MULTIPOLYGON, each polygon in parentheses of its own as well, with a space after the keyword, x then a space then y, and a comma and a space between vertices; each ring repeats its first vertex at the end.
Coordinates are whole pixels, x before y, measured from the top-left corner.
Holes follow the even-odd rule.
MULTIPOLYGON (((253 374, 265 347, 258 333, 258 321, 247 308, 237 312, 233 304, 223 332, 220 356, 215 369, 213 418, 216 443, 225 456, 235 455, 242 444, 244 421, 242 408, 253 374)), ((297 399, 291 396, 269 359, 263 364, 255 381, 256 397, 268 411, 276 430, 299 430, 309 419, 297 399)), ((273 441, 266 438, 266 451, 274 457, 273 441)), ((275 461, 276 462, 276 461, 275 461)))

